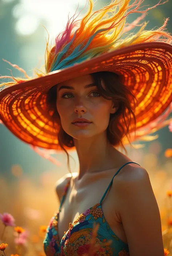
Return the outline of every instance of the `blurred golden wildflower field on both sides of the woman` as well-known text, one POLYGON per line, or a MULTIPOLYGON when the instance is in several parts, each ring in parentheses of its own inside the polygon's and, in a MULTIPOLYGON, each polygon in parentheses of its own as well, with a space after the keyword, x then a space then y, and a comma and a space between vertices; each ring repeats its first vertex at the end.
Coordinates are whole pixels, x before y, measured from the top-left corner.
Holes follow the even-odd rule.
MULTIPOLYGON (((172 122, 168 128, 171 133, 172 122)), ((172 256, 172 148, 162 152, 161 144, 153 140, 148 149, 143 147, 128 155, 144 166, 150 176, 160 210, 164 255, 172 256)), ((57 174, 44 174, 40 177, 41 185, 38 186, 26 178, 19 165, 13 166, 11 171, 15 179, 10 184, 0 176, 1 255, 45 256, 43 240, 46 228, 60 203, 52 190, 57 174)), ((96 243, 97 230, 98 226, 95 225, 90 249, 83 256, 102 255, 95 254, 105 245, 96 243)))

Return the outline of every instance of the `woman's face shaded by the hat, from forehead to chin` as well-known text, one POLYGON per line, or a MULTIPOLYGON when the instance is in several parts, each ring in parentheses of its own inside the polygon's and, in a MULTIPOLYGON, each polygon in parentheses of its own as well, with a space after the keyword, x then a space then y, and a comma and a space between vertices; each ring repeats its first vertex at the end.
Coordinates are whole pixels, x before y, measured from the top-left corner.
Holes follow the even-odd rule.
POLYGON ((56 104, 62 128, 75 139, 103 133, 110 113, 116 111, 112 100, 100 96, 90 74, 58 84, 56 104), (76 118, 86 118, 89 123, 76 123, 76 118))

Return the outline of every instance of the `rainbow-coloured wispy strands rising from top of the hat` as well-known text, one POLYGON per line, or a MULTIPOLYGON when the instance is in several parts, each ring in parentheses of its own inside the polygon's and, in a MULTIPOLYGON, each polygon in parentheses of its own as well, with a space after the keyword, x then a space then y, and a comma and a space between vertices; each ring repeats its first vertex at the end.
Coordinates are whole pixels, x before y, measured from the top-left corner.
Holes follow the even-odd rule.
POLYGON ((140 25, 141 28, 138 33, 127 35, 127 32, 145 17, 147 11, 167 1, 161 3, 160 0, 155 6, 140 11, 140 5, 144 0, 135 0, 133 4, 129 4, 130 0, 113 0, 111 4, 95 12, 92 12, 93 0, 88 1, 89 10, 81 23, 79 20, 75 20, 78 16, 74 19, 74 15, 72 21, 72 18, 68 20, 64 32, 56 37, 56 44, 53 48, 48 51, 47 46, 45 64, 47 73, 73 66, 76 63, 127 45, 151 41, 163 41, 169 44, 172 42, 171 35, 164 31, 168 19, 165 20, 162 27, 156 30, 144 30, 147 25, 144 23, 140 25), (127 16, 138 12, 143 13, 143 15, 132 24, 127 24, 127 16))

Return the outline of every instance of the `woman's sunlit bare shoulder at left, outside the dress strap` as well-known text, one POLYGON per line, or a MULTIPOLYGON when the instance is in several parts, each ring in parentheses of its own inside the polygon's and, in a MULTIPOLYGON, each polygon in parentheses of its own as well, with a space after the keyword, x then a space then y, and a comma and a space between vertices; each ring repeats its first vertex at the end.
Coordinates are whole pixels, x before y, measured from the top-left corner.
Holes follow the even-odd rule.
MULTIPOLYGON (((73 177, 77 176, 77 174, 78 174, 78 172, 72 172, 73 177)), ((58 179, 57 182, 55 183, 56 194, 60 201, 61 201, 64 189, 65 189, 65 186, 70 178, 71 178, 71 174, 67 173, 64 176, 62 176, 60 179, 58 179)))

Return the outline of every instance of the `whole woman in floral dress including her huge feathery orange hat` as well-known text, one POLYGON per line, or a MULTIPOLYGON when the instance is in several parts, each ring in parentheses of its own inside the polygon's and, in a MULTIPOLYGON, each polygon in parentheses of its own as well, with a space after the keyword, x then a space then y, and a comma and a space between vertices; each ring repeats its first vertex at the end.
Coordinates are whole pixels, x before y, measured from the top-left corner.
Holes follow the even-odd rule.
POLYGON ((61 204, 44 239, 46 255, 88 252, 98 223, 96 243, 111 243, 95 255, 163 256, 148 173, 119 148, 171 103, 172 37, 164 32, 167 20, 157 30, 146 31, 144 24, 125 37, 143 18, 124 23, 129 13, 141 12, 141 0, 114 0, 95 12, 89 2, 79 28, 74 18, 68 21, 46 49, 46 74, 1 84, 0 118, 22 141, 64 150, 68 167, 67 151, 77 151, 78 173, 57 183, 61 204))

